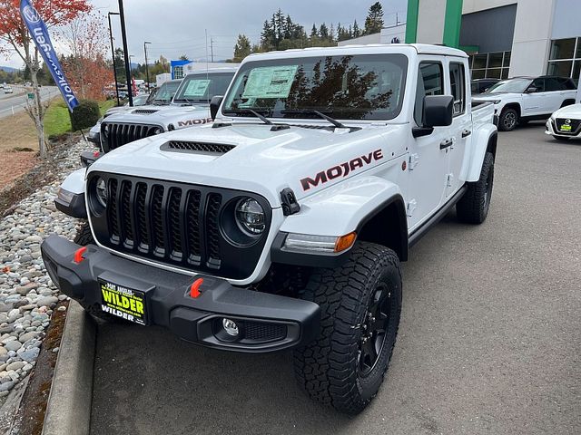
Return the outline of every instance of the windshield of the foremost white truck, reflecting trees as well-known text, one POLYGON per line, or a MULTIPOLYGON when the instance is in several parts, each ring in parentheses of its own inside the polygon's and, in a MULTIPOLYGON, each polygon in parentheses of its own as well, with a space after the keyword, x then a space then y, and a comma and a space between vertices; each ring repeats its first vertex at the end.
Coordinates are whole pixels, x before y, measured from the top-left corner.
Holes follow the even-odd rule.
POLYGON ((403 54, 314 56, 241 66, 222 112, 274 118, 391 120, 403 102, 408 58, 403 54))

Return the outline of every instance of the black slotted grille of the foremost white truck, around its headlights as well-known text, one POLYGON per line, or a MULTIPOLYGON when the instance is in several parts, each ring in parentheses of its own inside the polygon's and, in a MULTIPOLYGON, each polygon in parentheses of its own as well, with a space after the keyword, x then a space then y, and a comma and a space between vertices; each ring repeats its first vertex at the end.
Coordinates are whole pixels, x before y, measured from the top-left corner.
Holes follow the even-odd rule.
POLYGON ((95 208, 90 199, 90 219, 96 240, 104 247, 225 277, 247 277, 254 270, 268 231, 256 244, 241 247, 223 235, 221 218, 222 212, 231 213, 231 204, 250 197, 261 203, 270 223, 264 198, 231 189, 103 173, 92 173, 87 185, 93 186, 91 180, 97 177, 106 182, 107 207, 95 208))

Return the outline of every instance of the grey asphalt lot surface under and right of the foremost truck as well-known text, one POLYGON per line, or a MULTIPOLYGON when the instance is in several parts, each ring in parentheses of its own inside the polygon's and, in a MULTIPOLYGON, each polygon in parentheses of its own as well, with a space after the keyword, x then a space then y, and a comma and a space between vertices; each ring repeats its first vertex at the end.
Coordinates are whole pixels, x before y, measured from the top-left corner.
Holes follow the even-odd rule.
POLYGON ((290 352, 100 324, 92 433, 581 433, 581 141, 543 131, 500 133, 483 225, 451 212, 411 249, 389 372, 359 416, 310 401, 290 352))

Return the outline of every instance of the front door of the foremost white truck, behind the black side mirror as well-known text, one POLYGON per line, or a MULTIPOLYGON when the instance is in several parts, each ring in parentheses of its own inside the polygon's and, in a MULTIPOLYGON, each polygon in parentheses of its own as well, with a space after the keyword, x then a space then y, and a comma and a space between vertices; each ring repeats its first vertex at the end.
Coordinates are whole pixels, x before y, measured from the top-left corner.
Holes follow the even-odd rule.
MULTIPOLYGON (((412 127, 423 126, 424 97, 444 95, 446 65, 442 59, 440 56, 419 56, 412 127)), ((440 150, 440 143, 449 137, 449 127, 435 127, 431 134, 414 138, 410 143, 409 196, 406 204, 410 231, 435 213, 445 200, 449 151, 440 150)))

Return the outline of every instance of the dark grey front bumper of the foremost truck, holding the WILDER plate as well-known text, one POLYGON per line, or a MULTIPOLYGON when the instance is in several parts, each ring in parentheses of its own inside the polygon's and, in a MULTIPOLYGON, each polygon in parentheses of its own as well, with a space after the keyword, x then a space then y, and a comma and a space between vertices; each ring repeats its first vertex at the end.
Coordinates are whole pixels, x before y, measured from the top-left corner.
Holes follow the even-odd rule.
POLYGON ((309 301, 234 287, 211 276, 194 278, 114 256, 89 245, 74 262, 80 246, 64 237, 44 240, 44 265, 55 285, 84 306, 102 304, 99 280, 141 291, 147 324, 169 328, 183 340, 222 350, 266 353, 310 343, 319 333, 320 307, 309 301), (193 281, 203 278, 200 295, 192 297, 193 281), (222 318, 241 326, 240 337, 224 340, 222 318))

